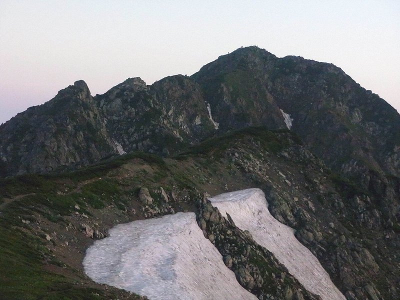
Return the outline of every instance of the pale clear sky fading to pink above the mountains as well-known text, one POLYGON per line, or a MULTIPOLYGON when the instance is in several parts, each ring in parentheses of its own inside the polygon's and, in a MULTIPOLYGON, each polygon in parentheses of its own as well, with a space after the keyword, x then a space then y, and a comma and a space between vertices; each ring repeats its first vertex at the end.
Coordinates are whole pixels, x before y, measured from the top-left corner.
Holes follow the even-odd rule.
POLYGON ((248 45, 334 63, 400 111, 399 0, 0 0, 0 123, 78 79, 101 94, 248 45))

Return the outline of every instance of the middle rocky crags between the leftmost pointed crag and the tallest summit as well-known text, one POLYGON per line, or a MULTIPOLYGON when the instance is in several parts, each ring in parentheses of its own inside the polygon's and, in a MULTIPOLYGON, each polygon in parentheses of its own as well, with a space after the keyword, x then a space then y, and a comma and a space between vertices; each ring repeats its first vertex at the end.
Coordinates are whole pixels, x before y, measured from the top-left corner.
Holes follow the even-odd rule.
POLYGON ((167 155, 215 130, 199 85, 186 76, 151 86, 129 78, 95 100, 109 134, 125 151, 167 155))

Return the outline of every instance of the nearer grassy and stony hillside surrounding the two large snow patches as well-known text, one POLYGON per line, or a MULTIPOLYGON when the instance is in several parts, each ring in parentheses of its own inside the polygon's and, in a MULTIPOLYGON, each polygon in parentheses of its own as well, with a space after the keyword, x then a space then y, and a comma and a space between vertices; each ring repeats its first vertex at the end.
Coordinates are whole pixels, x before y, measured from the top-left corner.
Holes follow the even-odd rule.
MULTIPOLYGON (((296 230, 297 239, 347 298, 395 298, 400 240, 392 230, 398 227, 384 226, 376 199, 351 184, 290 132, 260 128, 204 141, 174 158, 133 152, 70 173, 3 179, 1 293, 4 298, 120 297, 119 291, 94 284, 83 273, 83 254, 93 238, 103 237, 117 223, 183 210, 198 213, 203 192, 257 186, 265 192, 271 214, 296 230), (139 199, 140 187, 149 189, 152 204, 139 199), (8 268, 10 264, 15 267, 8 268)), ((218 229, 214 234, 223 233, 218 229)), ((218 248, 231 257, 234 249, 218 248)), ((252 259, 258 267, 270 267, 260 257, 252 259)), ((263 272, 263 282, 275 286, 264 295, 282 290, 271 277, 282 272, 263 272)))

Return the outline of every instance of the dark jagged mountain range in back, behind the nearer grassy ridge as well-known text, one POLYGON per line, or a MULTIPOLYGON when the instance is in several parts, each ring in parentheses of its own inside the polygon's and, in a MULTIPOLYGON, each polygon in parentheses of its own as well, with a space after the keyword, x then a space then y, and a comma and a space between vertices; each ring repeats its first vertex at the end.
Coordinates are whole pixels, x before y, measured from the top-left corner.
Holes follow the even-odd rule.
POLYGON ((284 129, 288 121, 329 167, 359 184, 372 185, 375 173, 400 175, 394 108, 332 64, 278 58, 254 46, 190 77, 152 85, 128 78, 94 97, 76 81, 0 127, 0 175, 85 165, 124 151, 167 155, 215 133, 284 129))

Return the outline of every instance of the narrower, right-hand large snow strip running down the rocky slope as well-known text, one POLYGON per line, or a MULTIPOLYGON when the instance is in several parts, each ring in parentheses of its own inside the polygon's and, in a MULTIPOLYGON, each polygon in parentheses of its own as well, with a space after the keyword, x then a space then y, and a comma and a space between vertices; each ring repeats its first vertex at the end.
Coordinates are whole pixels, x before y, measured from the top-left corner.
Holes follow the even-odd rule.
POLYGON ((248 230, 258 244, 271 251, 308 291, 323 300, 345 300, 318 259, 295 238, 293 229, 269 213, 262 190, 227 192, 209 200, 222 215, 229 213, 237 227, 248 230))

